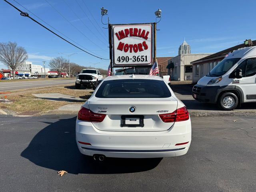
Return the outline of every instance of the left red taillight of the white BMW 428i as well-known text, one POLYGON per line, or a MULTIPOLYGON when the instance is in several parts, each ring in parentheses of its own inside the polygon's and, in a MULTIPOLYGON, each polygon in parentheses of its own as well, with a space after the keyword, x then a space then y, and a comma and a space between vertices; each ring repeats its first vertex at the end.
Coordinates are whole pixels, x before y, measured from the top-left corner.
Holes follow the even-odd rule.
POLYGON ((106 114, 94 113, 90 109, 81 107, 78 112, 78 119, 81 121, 102 122, 106 114))

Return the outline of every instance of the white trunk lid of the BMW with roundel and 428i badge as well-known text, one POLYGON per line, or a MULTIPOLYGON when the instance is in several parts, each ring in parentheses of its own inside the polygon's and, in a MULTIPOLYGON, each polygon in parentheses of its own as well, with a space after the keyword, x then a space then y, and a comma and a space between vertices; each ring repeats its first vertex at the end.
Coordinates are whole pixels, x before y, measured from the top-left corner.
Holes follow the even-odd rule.
POLYGON ((163 122, 160 114, 172 113, 178 101, 169 98, 90 98, 94 113, 106 114, 102 122, 92 122, 102 131, 164 131, 174 124, 163 122))

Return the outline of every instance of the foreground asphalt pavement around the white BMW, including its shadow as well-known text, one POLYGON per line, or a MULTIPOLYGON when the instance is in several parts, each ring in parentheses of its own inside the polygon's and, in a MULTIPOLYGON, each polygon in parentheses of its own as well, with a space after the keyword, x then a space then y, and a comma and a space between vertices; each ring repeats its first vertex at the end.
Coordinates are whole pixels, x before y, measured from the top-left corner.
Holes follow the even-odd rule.
POLYGON ((104 162, 80 154, 75 121, 0 116, 1 191, 256 191, 255 116, 192 118, 184 156, 104 162))

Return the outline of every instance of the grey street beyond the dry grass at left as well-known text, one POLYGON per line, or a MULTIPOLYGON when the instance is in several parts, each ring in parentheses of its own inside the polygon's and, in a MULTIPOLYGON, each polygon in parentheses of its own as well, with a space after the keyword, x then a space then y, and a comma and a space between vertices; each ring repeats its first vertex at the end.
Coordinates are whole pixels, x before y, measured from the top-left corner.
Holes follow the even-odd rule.
POLYGON ((27 89, 33 87, 45 87, 61 84, 74 83, 75 79, 53 79, 53 80, 28 80, 28 81, 12 81, 12 82, 0 82, 0 92, 18 90, 18 89, 27 89))

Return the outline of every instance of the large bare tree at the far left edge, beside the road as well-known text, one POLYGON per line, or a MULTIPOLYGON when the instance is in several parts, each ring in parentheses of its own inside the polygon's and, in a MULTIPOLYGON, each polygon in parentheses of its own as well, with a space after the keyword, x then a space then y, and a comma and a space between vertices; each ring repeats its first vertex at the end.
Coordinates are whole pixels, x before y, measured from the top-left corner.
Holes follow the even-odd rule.
POLYGON ((28 59, 26 50, 17 46, 16 42, 0 43, 0 62, 13 71, 13 79, 15 70, 28 59))

